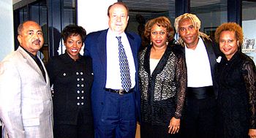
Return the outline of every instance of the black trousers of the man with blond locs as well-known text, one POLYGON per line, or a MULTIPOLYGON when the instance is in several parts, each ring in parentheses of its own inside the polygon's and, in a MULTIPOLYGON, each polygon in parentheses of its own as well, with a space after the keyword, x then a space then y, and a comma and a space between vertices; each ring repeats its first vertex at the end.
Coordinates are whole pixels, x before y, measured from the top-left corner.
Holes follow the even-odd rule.
POLYGON ((187 98, 184 118, 181 119, 182 138, 215 138, 217 129, 217 101, 187 98))

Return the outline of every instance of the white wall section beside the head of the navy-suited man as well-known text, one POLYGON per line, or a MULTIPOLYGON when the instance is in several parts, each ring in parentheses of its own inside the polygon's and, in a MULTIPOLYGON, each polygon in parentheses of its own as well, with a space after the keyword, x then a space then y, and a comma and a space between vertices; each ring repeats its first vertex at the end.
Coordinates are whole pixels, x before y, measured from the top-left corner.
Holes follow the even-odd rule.
POLYGON ((108 28, 108 7, 117 0, 78 0, 78 25, 87 34, 108 28))

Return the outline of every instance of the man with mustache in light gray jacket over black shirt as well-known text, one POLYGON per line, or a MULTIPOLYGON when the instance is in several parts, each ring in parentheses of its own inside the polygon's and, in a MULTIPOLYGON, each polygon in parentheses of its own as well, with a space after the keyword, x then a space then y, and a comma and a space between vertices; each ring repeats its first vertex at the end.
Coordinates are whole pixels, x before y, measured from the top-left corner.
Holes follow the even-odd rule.
POLYGON ((3 137, 53 137, 48 73, 37 51, 44 40, 34 21, 18 27, 18 50, 0 63, 0 118, 3 137))

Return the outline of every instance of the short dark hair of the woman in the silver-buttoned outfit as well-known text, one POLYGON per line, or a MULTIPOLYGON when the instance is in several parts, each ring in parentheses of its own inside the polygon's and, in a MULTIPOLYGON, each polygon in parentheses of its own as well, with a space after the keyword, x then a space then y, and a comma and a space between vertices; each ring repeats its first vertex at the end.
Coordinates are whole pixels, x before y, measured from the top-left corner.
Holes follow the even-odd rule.
POLYGON ((61 31, 61 37, 64 40, 64 42, 67 41, 68 37, 78 35, 80 35, 83 41, 84 39, 86 39, 86 30, 82 26, 70 24, 61 31))

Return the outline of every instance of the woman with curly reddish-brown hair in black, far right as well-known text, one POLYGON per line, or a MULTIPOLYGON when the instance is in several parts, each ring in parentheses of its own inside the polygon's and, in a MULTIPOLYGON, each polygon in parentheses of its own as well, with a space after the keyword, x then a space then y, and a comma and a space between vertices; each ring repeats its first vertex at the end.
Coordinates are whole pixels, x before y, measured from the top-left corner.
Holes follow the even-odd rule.
POLYGON ((215 40, 223 55, 217 61, 218 137, 256 138, 256 69, 241 53, 243 31, 236 23, 223 23, 215 40))

